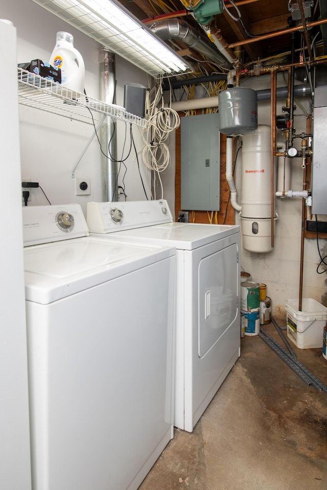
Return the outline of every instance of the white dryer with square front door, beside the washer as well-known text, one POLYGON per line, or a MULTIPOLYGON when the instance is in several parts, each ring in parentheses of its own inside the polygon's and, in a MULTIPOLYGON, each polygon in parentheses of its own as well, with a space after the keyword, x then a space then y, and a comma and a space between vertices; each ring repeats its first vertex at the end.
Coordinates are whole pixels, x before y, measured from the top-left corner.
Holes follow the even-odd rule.
POLYGON ((88 203, 96 236, 176 248, 174 425, 193 431, 240 356, 240 227, 174 223, 167 201, 88 203))

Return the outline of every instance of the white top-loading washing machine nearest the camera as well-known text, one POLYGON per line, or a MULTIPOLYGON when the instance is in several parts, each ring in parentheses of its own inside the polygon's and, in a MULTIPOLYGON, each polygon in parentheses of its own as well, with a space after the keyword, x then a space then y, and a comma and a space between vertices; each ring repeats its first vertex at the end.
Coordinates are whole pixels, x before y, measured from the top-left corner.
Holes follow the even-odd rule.
POLYGON ((33 490, 134 490, 173 437, 175 249, 23 216, 33 490))

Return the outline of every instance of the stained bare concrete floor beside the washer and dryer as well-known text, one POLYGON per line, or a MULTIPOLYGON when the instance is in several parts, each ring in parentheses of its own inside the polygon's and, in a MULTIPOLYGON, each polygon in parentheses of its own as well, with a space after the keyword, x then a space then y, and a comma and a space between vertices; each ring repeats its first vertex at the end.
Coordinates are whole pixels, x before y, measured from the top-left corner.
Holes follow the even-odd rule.
MULTIPOLYGON (((262 327, 285 347, 273 324, 262 327)), ((322 350, 290 344, 327 385, 322 350)), ((259 336, 242 338, 241 357, 193 433, 175 429, 139 487, 168 489, 327 490, 327 395, 259 336)))

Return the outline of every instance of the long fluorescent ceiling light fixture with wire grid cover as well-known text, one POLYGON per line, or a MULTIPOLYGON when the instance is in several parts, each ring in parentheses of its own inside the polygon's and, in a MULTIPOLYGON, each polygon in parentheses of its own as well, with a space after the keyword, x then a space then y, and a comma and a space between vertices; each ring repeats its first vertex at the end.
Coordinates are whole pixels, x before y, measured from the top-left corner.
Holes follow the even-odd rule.
POLYGON ((153 77, 192 71, 159 37, 113 0, 33 0, 153 77))

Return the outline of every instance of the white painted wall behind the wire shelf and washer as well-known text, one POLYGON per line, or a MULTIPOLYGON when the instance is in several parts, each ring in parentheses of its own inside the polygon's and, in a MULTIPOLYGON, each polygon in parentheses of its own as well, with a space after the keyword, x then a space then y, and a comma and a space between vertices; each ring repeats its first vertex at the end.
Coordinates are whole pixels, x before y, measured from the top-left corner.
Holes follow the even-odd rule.
MULTIPOLYGON (((13 0, 0 7, 0 16, 14 22, 17 29, 17 63, 39 58, 49 61, 56 42, 57 31, 67 31, 74 36, 74 46, 81 53, 85 64, 86 93, 100 99, 100 62, 102 46, 69 26, 31 0, 13 0)), ((126 60, 116 56, 116 104, 123 105, 124 83, 132 82, 148 86, 145 72, 134 67, 126 60)), ((49 114, 35 108, 19 105, 21 173, 23 178, 39 182, 51 204, 76 202, 86 210, 90 200, 102 201, 101 152, 97 138, 94 138, 80 161, 75 175, 90 177, 91 194, 75 195, 75 181, 71 177, 72 169, 94 133, 92 124, 74 121, 56 114, 49 114)), ((91 118, 90 118, 91 123, 91 118)), ((127 155, 130 147, 130 126, 118 122, 117 127, 118 159, 127 155)), ((141 132, 133 125, 133 135, 137 151, 142 149, 141 132)), ((106 150, 106 149, 104 149, 106 150)), ((139 176, 135 152, 121 166, 118 184, 122 185, 123 175, 128 200, 146 199, 139 176)), ((142 156, 139 167, 145 179, 145 167, 142 156)), ((30 189, 29 205, 48 204, 39 188, 30 189)), ((125 198, 124 198, 125 199, 125 198)))

